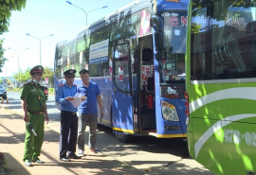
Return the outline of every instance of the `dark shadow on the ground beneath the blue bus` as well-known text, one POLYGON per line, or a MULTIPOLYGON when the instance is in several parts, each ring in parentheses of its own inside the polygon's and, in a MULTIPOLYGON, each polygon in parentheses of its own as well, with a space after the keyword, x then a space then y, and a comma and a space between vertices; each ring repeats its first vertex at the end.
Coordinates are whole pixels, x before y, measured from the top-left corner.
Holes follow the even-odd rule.
MULTIPOLYGON (((137 150, 142 150, 152 153, 173 154, 179 157, 190 156, 187 142, 180 138, 159 139, 154 136, 137 136, 130 143, 121 143, 116 139, 112 129, 99 125, 98 130, 102 132, 98 133, 97 141, 97 145, 101 146, 101 150, 116 151, 119 156, 127 154, 125 150, 134 150, 129 151, 134 154, 136 154, 137 150), (106 139, 105 134, 111 139, 106 139), (101 140, 104 140, 104 144, 101 144, 101 140)), ((87 139, 88 133, 85 133, 85 141, 87 139)), ((168 161, 163 162, 168 163, 168 161)))

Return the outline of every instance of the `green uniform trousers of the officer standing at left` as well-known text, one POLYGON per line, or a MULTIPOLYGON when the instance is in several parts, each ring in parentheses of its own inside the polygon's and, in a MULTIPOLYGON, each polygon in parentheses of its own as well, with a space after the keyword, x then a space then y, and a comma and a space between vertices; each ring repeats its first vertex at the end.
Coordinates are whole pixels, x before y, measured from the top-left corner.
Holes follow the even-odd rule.
POLYGON ((28 114, 29 123, 32 125, 37 136, 34 136, 26 123, 25 150, 23 161, 38 159, 44 141, 45 114, 28 114))

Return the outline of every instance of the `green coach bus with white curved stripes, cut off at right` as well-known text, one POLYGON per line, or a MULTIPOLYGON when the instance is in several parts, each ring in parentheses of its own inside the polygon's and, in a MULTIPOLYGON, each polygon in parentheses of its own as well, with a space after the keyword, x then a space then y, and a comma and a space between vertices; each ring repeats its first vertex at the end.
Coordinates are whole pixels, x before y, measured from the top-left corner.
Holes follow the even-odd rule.
POLYGON ((256 175, 256 0, 191 0, 186 61, 192 158, 256 175))

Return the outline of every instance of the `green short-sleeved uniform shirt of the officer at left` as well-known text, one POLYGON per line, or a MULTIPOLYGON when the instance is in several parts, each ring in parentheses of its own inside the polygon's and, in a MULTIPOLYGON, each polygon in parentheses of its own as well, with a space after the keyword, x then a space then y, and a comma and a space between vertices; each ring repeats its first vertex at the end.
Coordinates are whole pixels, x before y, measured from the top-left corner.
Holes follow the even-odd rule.
POLYGON ((35 82, 28 82, 24 85, 21 98, 27 100, 27 110, 32 112, 44 111, 42 106, 39 103, 38 96, 40 96, 40 101, 44 106, 47 97, 45 92, 41 89, 40 84, 35 85, 35 82))

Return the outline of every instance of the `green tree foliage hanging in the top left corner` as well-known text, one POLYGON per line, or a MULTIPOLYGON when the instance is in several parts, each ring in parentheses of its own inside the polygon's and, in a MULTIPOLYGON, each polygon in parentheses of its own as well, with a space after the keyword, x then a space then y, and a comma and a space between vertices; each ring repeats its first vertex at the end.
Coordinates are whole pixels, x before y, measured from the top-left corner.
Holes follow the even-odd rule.
POLYGON ((10 11, 24 9, 26 2, 27 0, 0 0, 0 33, 8 31, 10 11))

